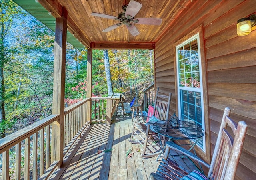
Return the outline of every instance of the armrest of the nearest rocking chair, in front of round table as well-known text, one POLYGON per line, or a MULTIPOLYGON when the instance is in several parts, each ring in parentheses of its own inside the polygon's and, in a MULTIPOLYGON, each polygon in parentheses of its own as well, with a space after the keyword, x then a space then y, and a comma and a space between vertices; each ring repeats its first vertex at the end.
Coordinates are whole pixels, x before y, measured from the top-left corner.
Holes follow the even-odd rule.
MULTIPOLYGON (((170 148, 172 148, 173 150, 176 150, 178 152, 181 152, 182 154, 188 156, 189 158, 195 160, 196 162, 200 162, 201 164, 204 164, 204 166, 206 166, 207 168, 210 168, 210 165, 206 162, 204 162, 202 159, 198 158, 195 154, 193 154, 192 152, 189 152, 188 150, 180 147, 177 144, 174 144, 172 141, 168 141, 166 142, 166 152, 165 154, 169 154, 169 150, 170 148), (168 151, 168 152, 167 152, 168 151)), ((166 158, 166 157, 165 157, 166 158)))

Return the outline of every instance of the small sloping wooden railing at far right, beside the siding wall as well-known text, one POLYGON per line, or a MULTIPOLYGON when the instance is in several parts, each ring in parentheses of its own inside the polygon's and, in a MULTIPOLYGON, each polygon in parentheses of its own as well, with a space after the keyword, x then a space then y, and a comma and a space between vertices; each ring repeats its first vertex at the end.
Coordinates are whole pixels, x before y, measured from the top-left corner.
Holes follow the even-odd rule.
POLYGON ((148 108, 148 106, 152 106, 154 103, 154 99, 155 99, 155 84, 153 83, 152 85, 150 85, 147 89, 145 89, 144 91, 144 99, 143 99, 143 103, 142 103, 142 109, 143 111, 146 111, 146 109, 148 108))

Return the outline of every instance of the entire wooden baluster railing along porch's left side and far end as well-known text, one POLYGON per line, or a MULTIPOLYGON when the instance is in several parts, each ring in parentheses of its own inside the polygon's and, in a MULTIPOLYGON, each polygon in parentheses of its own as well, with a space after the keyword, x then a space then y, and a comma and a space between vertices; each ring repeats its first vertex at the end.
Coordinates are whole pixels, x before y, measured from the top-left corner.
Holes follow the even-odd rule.
MULTIPOLYGON (((92 112, 94 119, 106 119, 110 124, 114 110, 122 98, 120 94, 86 98, 65 108, 64 156, 91 120, 86 119, 88 103, 95 102, 93 103, 95 110, 92 112)), ((2 173, 0 173, 0 179, 8 180, 10 177, 17 180, 23 179, 23 177, 24 180, 36 180, 39 177, 44 179, 59 166, 60 162, 51 162, 50 157, 53 148, 51 146, 51 125, 58 120, 60 120, 60 115, 50 115, 1 139, 2 173)))

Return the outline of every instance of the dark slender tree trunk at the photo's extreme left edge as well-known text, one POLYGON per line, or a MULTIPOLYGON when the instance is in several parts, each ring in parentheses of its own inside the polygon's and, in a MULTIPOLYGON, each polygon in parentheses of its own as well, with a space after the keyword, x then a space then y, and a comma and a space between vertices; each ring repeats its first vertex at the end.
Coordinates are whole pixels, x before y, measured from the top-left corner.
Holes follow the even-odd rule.
POLYGON ((1 32, 0 32, 0 138, 5 136, 5 110, 4 110, 4 20, 1 16, 1 32))

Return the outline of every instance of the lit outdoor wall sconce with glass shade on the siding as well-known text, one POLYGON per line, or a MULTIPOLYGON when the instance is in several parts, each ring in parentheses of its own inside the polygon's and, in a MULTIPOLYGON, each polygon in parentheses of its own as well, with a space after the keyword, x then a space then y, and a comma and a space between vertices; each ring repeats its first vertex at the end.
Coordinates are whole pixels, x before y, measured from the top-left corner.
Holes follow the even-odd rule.
POLYGON ((250 34, 252 27, 256 25, 256 14, 249 16, 248 18, 242 18, 237 21, 237 34, 238 36, 245 36, 250 34))

